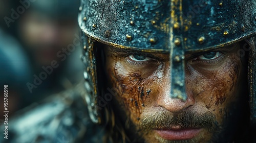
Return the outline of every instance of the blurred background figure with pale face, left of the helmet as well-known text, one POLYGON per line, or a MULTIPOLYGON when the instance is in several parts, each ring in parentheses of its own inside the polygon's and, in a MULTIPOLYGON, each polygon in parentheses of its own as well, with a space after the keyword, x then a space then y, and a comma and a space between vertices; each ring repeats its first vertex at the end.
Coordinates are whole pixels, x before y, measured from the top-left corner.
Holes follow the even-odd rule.
MULTIPOLYGON (((16 7, 21 5, 19 1, 17 4, 16 7)), ((32 67, 31 78, 26 82, 24 106, 69 88, 79 80, 73 74, 82 70, 77 48, 80 46, 78 7, 78 0, 37 0, 30 2, 30 7, 15 23, 17 38, 32 67), (76 61, 69 65, 72 59, 76 61)))

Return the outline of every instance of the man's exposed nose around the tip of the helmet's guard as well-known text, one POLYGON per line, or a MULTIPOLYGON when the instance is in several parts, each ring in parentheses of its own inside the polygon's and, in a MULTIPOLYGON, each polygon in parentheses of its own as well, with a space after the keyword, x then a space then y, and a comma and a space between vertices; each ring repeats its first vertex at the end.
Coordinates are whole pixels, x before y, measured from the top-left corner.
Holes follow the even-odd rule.
POLYGON ((183 101, 182 99, 178 98, 171 98, 170 96, 170 82, 166 80, 163 86, 159 88, 159 96, 157 99, 157 105, 170 111, 170 112, 179 112, 184 109, 189 108, 195 104, 195 99, 193 94, 187 91, 187 99, 183 101))

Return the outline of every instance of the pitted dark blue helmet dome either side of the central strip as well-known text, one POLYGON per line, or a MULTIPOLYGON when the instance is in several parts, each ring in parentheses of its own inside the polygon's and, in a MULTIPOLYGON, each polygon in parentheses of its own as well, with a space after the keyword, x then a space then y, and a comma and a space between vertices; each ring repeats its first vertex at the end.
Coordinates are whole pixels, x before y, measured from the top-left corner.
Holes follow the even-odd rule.
POLYGON ((185 52, 202 51, 231 44, 256 33, 255 3, 256 1, 238 0, 86 0, 81 4, 83 9, 79 15, 79 25, 87 36, 102 43, 121 48, 168 53, 171 48, 170 13, 181 8, 181 13, 175 13, 174 17, 180 21, 180 35, 187 38, 184 42, 185 52), (171 3, 174 3, 173 7, 171 3), (81 20, 81 17, 87 17, 87 21, 81 20), (131 25, 131 19, 134 25, 131 25), (97 30, 93 29, 93 24, 97 24, 97 30), (244 32, 241 31, 242 24, 244 32), (106 30, 111 31, 110 38, 104 36, 106 30), (226 30, 229 34, 224 37, 226 30), (126 40, 127 33, 134 35, 133 40, 126 40), (199 35, 206 39, 203 44, 197 42, 199 35), (148 42, 148 36, 156 36, 159 40, 153 45, 148 42))

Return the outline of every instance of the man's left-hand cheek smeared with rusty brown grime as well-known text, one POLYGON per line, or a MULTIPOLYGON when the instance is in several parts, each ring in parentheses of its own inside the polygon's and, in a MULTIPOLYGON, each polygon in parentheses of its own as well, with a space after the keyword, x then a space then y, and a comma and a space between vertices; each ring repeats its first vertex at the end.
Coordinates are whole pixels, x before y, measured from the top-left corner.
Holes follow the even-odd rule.
POLYGON ((111 79, 113 86, 118 89, 117 100, 121 106, 124 106, 132 120, 139 121, 141 113, 149 103, 148 99, 153 90, 150 85, 153 81, 141 79, 134 73, 120 74, 118 70, 112 72, 111 79))

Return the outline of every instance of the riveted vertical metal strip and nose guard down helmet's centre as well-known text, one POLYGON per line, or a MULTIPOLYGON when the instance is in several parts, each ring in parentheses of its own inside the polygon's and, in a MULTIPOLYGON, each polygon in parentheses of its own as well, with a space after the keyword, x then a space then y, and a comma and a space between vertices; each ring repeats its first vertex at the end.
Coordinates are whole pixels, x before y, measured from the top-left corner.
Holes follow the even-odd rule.
POLYGON ((171 1, 170 8, 170 97, 186 101, 182 1, 171 1), (179 29, 177 23, 180 23, 179 29))

